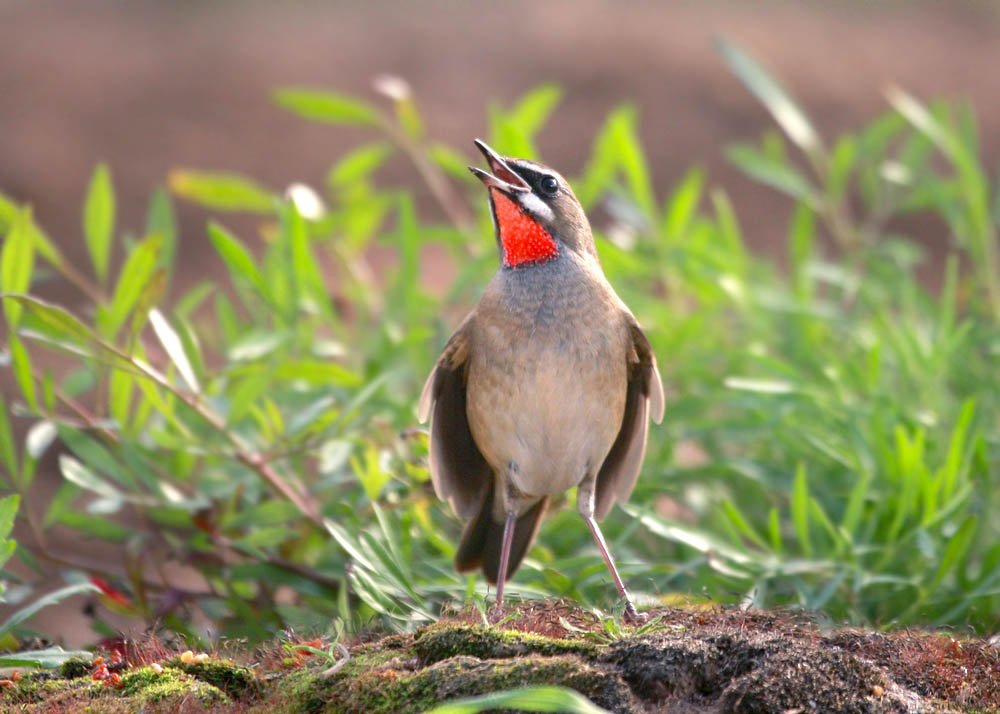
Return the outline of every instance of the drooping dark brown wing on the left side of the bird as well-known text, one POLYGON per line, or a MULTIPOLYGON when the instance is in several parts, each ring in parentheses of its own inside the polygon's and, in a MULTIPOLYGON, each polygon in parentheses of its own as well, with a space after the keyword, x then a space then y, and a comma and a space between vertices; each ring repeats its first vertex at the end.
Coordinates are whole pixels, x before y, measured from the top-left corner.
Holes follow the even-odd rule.
POLYGON ((465 384, 472 315, 455 330, 424 384, 417 415, 431 417, 430 470, 434 492, 459 517, 475 516, 486 498, 492 472, 472 439, 465 411, 465 384))

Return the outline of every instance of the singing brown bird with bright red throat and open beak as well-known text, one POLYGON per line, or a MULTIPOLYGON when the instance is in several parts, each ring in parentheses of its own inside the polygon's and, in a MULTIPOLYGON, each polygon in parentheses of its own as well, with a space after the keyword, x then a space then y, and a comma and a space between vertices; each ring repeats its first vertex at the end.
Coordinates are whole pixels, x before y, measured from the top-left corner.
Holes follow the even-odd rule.
POLYGON ((608 282, 590 222, 569 183, 535 161, 468 167, 487 189, 500 265, 448 339, 418 403, 430 417, 438 498, 466 521, 458 572, 496 586, 517 570, 554 495, 577 509, 625 617, 639 619, 598 526, 635 487, 663 383, 646 334, 608 282))

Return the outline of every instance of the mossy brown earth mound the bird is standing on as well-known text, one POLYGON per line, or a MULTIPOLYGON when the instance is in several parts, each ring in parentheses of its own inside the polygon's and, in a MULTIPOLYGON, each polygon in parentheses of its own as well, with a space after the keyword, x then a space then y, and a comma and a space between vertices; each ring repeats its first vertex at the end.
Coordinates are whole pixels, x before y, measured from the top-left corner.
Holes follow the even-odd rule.
POLYGON ((288 657, 281 647, 250 666, 173 658, 160 671, 126 668, 117 686, 74 664, 11 683, 0 711, 407 714, 543 684, 621 713, 1000 711, 1000 650, 981 640, 827 632, 788 613, 668 609, 650 613, 658 619, 642 634, 611 636, 592 616, 566 609, 525 603, 502 627, 474 624, 467 613, 358 643, 330 676, 330 662, 288 657))

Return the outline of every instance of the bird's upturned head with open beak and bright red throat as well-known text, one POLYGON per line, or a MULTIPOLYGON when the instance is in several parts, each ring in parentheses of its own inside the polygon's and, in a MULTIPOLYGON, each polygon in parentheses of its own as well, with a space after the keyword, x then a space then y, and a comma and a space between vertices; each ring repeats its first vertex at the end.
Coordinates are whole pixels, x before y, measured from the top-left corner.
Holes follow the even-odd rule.
POLYGON ((490 172, 469 170, 489 189, 504 267, 540 265, 563 250, 596 258, 590 222, 566 179, 535 161, 503 158, 478 139, 476 146, 490 172))

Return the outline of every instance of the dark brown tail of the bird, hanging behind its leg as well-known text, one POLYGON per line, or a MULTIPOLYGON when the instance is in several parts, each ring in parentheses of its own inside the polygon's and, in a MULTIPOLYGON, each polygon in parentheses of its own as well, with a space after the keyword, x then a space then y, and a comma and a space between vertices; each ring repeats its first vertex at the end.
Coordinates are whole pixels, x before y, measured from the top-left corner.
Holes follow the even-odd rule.
MULTIPOLYGON (((462 540, 455 554, 455 569, 458 572, 464 573, 482 566, 486 580, 492 585, 496 585, 499 575, 500 548, 503 545, 503 523, 493 520, 495 491, 496 487, 491 485, 489 493, 483 499, 483 507, 462 531, 462 540)), ((508 578, 514 574, 528 552, 548 505, 549 497, 546 496, 517 519, 510 546, 510 560, 507 563, 508 578)))

